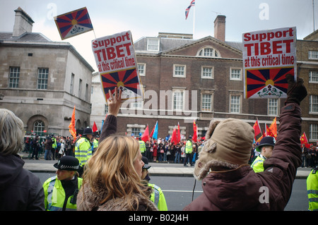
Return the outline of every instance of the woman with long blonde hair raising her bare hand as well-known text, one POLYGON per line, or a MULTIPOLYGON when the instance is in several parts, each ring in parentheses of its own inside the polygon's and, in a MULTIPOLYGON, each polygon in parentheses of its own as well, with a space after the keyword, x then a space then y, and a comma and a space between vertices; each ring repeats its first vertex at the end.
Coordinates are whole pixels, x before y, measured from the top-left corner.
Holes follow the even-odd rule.
POLYGON ((149 198, 151 187, 141 180, 143 161, 139 142, 114 135, 121 93, 120 90, 117 95, 116 88, 114 98, 107 99, 109 111, 98 149, 86 163, 83 186, 78 193, 78 210, 158 210, 149 198))

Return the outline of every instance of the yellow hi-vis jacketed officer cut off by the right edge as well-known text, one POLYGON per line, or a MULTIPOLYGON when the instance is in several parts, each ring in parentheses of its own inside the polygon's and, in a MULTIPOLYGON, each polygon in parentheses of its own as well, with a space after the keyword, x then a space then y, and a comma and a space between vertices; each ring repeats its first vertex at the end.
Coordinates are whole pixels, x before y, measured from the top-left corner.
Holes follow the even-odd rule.
POLYGON ((307 177, 307 194, 309 200, 309 211, 318 211, 318 166, 310 171, 307 177))

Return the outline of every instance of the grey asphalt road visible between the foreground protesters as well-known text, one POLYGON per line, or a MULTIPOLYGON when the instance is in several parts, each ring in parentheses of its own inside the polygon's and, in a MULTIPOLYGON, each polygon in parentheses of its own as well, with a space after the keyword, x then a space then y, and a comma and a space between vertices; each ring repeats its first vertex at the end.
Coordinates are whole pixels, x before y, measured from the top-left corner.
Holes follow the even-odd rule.
MULTIPOLYGON (((42 183, 47 178, 55 176, 49 173, 35 173, 42 183)), ((192 190, 194 189, 194 178, 178 176, 151 176, 150 183, 155 183, 165 194, 167 208, 169 211, 181 211, 192 201, 192 190)), ((201 182, 196 181, 194 199, 202 193, 201 182)), ((290 197, 285 211, 307 211, 308 199, 306 179, 296 179, 293 185, 293 193, 290 197)))

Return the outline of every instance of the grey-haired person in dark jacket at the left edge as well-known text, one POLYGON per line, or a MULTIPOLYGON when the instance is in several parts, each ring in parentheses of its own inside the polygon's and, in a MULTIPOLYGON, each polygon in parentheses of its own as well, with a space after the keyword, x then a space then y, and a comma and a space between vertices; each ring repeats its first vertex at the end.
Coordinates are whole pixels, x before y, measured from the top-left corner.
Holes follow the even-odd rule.
POLYGON ((23 122, 0 109, 0 211, 44 211, 40 178, 23 169, 18 153, 24 147, 23 122))

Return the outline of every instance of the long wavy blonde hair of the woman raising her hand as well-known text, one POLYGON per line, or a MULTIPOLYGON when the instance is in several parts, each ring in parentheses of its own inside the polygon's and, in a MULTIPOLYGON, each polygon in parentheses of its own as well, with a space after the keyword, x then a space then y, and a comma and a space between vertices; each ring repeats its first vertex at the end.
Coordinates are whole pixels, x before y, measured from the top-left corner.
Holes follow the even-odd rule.
POLYGON ((131 137, 111 135, 100 142, 98 149, 86 163, 83 183, 90 184, 93 192, 98 188, 107 190, 100 204, 113 198, 124 198, 130 210, 134 202, 139 205, 136 193, 145 197, 146 186, 134 169, 134 161, 139 153, 139 142, 131 137))

